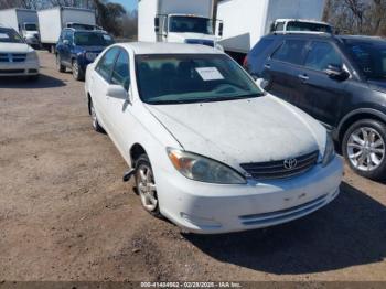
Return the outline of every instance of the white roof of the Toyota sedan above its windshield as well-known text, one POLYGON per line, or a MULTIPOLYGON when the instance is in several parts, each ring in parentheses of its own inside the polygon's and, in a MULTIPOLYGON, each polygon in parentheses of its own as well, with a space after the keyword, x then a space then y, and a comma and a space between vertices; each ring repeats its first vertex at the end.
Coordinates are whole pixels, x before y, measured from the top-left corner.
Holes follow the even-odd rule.
POLYGON ((132 50, 135 54, 224 54, 223 52, 200 44, 164 42, 129 42, 120 46, 132 50))

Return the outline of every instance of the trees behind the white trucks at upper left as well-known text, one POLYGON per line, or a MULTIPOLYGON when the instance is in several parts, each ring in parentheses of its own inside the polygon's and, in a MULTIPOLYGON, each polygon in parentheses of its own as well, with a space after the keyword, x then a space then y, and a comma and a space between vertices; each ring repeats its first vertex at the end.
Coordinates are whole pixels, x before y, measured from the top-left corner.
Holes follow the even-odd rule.
POLYGON ((41 10, 58 6, 93 9, 96 11, 97 24, 116 38, 137 38, 137 11, 126 11, 119 3, 107 0, 0 0, 0 9, 41 10))

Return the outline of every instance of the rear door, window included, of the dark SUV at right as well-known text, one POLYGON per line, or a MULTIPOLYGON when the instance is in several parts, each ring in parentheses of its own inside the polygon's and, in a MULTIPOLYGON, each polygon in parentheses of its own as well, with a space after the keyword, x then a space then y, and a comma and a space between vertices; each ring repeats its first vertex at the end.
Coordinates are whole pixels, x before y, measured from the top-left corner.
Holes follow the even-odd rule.
POLYGON ((266 89, 293 105, 298 105, 303 92, 302 66, 308 41, 287 39, 264 64, 262 78, 266 89))

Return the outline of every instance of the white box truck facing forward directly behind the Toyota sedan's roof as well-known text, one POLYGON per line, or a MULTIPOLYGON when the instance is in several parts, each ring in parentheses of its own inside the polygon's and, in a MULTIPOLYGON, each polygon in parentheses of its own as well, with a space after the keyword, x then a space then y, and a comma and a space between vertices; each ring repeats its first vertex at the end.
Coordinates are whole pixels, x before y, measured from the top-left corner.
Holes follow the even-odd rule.
POLYGON ((222 23, 214 11, 214 0, 140 0, 138 40, 216 46, 222 23))

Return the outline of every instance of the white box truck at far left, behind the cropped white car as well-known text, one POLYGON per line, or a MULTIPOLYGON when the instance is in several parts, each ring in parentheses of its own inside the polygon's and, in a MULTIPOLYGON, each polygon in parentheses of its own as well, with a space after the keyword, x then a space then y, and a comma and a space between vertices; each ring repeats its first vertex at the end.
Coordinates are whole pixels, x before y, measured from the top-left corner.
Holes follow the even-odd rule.
POLYGON ((25 42, 33 46, 40 45, 39 20, 35 10, 6 9, 0 10, 0 24, 13 28, 25 42))

